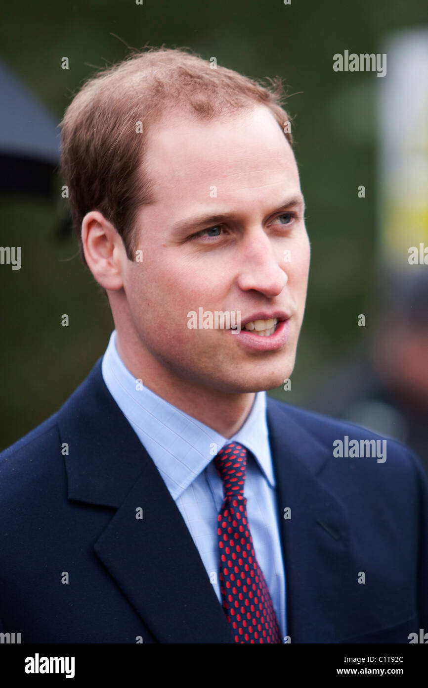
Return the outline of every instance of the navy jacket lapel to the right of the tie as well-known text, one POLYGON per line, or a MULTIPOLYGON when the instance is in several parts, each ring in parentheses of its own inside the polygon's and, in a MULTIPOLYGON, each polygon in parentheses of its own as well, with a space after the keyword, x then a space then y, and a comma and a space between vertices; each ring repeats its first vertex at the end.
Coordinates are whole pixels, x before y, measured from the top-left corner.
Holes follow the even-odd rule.
MULTIPOLYGON (((297 424, 287 407, 268 399, 269 440, 277 480, 291 643, 335 643, 343 627, 348 524, 322 482, 331 453, 297 424), (284 519, 284 509, 291 518, 284 519)), ((333 449, 332 449, 333 451, 333 449)))

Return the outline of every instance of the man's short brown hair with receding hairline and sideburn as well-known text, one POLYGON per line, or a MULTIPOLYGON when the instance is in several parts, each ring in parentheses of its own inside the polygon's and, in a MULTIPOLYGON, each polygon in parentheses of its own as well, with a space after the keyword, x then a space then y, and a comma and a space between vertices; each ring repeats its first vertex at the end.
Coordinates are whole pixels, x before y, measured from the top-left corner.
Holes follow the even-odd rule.
POLYGON ((290 118, 281 107, 281 80, 264 86, 233 69, 215 65, 188 48, 150 47, 102 69, 87 80, 65 111, 61 171, 69 187, 74 228, 82 250, 82 219, 98 210, 122 237, 134 259, 135 215, 153 202, 144 151, 150 125, 166 110, 189 111, 212 120, 266 105, 293 143, 290 118), (137 122, 142 133, 137 133, 137 122), (138 176, 137 176, 138 175, 138 176))

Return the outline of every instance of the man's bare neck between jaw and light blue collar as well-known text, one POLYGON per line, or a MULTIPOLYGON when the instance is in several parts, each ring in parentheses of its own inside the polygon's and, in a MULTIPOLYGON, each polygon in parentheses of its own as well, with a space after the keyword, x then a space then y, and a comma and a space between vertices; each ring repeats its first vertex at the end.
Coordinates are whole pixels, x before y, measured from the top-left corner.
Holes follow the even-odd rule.
POLYGON ((174 372, 161 365, 150 352, 135 349, 116 332, 116 347, 122 362, 135 379, 142 379, 157 396, 177 409, 188 413, 229 439, 243 426, 254 403, 255 394, 227 393, 178 378, 174 372), (144 374, 142 374, 144 371, 144 374))

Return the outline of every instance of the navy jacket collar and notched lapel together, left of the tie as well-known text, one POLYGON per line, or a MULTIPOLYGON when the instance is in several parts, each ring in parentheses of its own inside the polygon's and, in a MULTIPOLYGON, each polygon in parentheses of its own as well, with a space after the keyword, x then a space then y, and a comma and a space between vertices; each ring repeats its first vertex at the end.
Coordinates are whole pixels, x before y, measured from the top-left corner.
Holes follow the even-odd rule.
POLYGON ((234 643, 179 509, 106 388, 101 359, 58 424, 69 444, 69 498, 117 508, 94 549, 157 641, 234 643))

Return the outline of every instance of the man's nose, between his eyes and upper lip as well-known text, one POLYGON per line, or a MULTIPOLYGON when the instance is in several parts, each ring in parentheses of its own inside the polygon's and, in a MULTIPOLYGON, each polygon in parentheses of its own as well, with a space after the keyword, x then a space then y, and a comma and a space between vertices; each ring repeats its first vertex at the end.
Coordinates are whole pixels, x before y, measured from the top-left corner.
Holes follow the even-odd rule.
POLYGON ((239 288, 256 290, 266 297, 277 297, 289 279, 280 267, 283 256, 284 250, 273 246, 261 227, 249 233, 240 254, 239 288))

